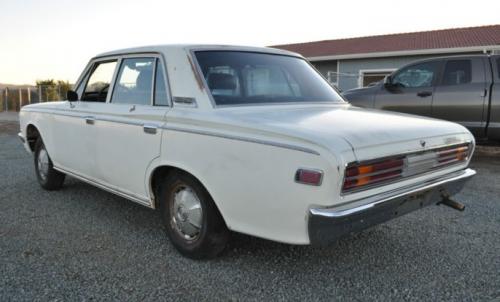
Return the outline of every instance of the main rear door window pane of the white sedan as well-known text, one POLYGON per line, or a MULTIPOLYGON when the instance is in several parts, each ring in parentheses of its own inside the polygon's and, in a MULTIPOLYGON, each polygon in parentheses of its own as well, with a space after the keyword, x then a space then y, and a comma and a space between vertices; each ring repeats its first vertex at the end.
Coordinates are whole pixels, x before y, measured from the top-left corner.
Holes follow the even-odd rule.
POLYGON ((154 64, 154 58, 123 59, 111 102, 150 105, 154 64))

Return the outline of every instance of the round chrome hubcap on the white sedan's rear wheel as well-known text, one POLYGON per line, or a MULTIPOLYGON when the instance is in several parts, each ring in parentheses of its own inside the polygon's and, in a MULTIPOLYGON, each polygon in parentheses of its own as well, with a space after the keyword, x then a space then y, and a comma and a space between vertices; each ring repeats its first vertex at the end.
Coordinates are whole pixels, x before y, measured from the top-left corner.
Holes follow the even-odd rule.
POLYGON ((196 193, 187 186, 182 186, 174 194, 171 205, 171 222, 174 229, 184 239, 196 240, 200 235, 203 210, 196 193))

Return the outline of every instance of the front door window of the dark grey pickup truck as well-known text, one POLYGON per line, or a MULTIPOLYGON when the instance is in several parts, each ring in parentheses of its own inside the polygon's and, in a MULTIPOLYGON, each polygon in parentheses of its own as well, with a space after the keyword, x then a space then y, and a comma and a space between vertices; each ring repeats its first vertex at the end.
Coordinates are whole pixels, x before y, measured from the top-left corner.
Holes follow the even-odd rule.
POLYGON ((393 78, 393 83, 406 88, 430 87, 437 76, 439 63, 425 62, 405 67, 393 78))

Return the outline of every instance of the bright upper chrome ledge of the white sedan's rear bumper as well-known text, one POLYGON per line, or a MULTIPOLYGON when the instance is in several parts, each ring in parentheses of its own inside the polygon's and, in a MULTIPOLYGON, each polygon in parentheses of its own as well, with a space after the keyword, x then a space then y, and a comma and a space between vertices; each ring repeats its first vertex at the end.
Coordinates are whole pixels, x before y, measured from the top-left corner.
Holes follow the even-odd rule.
POLYGON ((454 181, 458 181, 458 180, 462 180, 462 179, 467 179, 467 178, 474 176, 475 174, 476 174, 476 171, 467 168, 465 170, 461 170, 458 172, 447 174, 443 177, 424 181, 423 183, 418 184, 418 185, 409 185, 409 186, 398 188, 398 189, 395 189, 395 190, 392 190, 389 192, 385 192, 385 193, 382 193, 382 194, 379 194, 376 196, 371 196, 368 198, 363 198, 363 199, 358 199, 358 200, 352 201, 353 203, 360 201, 360 200, 364 200, 364 199, 369 201, 367 204, 364 204, 364 205, 361 205, 361 206, 358 206, 355 208, 351 208, 351 209, 347 209, 347 210, 336 210, 336 208, 319 208, 319 209, 313 208, 313 209, 309 210, 309 213, 311 215, 316 215, 316 216, 342 218, 342 217, 356 214, 358 212, 364 211, 364 210, 369 209, 369 208, 373 208, 375 206, 378 206, 378 205, 380 205, 384 202, 387 202, 389 200, 392 200, 392 199, 396 199, 396 198, 403 197, 406 195, 411 195, 413 193, 418 193, 421 191, 426 191, 426 190, 435 188, 437 186, 440 186, 440 185, 443 185, 446 183, 450 183, 450 182, 454 182, 454 181), (372 199, 374 199, 374 198, 376 198, 376 200, 373 201, 372 199))

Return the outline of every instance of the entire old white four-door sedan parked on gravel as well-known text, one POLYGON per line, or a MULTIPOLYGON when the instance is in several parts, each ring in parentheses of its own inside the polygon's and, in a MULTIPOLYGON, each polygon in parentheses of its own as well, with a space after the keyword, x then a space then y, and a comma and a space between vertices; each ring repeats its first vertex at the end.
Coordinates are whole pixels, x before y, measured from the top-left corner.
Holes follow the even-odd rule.
POLYGON ((327 244, 450 197, 474 138, 441 120, 360 109, 300 55, 171 45, 91 59, 68 100, 28 105, 40 185, 66 175, 158 209, 172 244, 210 258, 231 231, 327 244))

